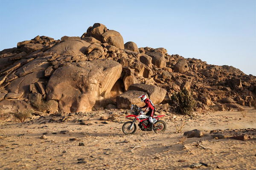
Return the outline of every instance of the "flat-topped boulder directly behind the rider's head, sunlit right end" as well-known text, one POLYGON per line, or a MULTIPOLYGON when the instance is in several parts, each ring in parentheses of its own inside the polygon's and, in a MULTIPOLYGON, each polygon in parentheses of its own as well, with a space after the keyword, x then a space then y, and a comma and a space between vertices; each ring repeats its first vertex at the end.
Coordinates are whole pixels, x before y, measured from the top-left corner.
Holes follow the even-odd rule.
POLYGON ((166 96, 166 90, 155 85, 133 84, 129 86, 128 90, 146 92, 148 94, 148 97, 154 104, 160 104, 166 96))

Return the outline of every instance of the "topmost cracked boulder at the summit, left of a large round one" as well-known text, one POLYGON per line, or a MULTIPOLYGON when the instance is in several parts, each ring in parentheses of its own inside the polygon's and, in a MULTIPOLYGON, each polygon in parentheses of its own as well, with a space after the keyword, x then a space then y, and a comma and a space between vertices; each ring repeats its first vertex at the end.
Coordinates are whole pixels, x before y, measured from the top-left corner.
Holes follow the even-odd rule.
POLYGON ((106 32, 107 30, 108 29, 105 25, 103 25, 101 23, 94 23, 93 26, 90 26, 87 29, 87 33, 86 33, 85 37, 94 37, 97 40, 102 41, 102 34, 104 32, 106 32))

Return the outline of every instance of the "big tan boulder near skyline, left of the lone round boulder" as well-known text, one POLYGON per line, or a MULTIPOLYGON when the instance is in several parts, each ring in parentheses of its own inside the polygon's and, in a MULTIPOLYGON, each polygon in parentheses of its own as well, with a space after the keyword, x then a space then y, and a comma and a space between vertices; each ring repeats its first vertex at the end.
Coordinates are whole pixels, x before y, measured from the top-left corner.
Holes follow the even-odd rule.
POLYGON ((162 52, 153 51, 153 52, 146 52, 146 55, 149 55, 152 58, 152 64, 156 67, 162 69, 166 67, 166 59, 162 52))

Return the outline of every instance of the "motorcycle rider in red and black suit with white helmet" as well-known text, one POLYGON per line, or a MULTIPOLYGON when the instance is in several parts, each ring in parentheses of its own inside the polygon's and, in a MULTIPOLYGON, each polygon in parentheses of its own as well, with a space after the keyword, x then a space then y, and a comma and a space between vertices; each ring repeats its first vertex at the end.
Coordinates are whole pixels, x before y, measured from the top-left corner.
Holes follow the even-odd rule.
POLYGON ((139 98, 141 99, 141 101, 144 101, 144 103, 145 103, 145 106, 143 106, 141 108, 142 109, 146 108, 145 111, 147 111, 149 109, 149 111, 146 113, 146 115, 149 115, 148 120, 149 120, 150 125, 151 125, 151 130, 153 130, 153 116, 154 116, 154 112, 155 112, 156 107, 154 106, 152 101, 149 98, 147 98, 146 95, 141 95, 139 98))

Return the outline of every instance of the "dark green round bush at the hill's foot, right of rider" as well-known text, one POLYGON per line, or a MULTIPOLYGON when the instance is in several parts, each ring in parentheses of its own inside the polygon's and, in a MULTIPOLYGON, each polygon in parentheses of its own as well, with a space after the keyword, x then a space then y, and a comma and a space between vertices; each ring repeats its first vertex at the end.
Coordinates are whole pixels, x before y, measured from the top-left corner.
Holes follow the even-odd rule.
POLYGON ((192 115, 196 102, 190 91, 183 89, 172 95, 171 107, 179 114, 192 115))

